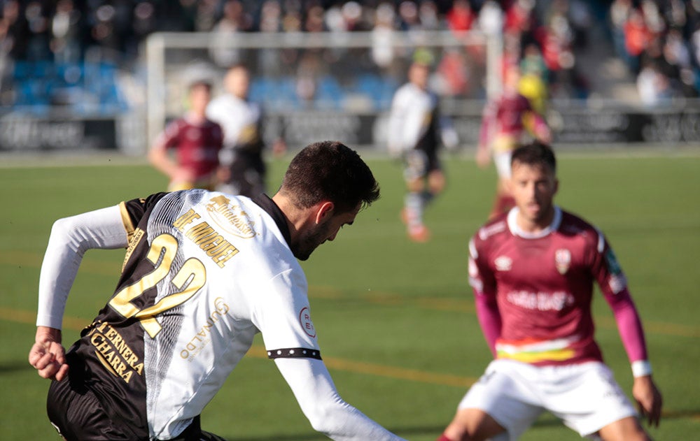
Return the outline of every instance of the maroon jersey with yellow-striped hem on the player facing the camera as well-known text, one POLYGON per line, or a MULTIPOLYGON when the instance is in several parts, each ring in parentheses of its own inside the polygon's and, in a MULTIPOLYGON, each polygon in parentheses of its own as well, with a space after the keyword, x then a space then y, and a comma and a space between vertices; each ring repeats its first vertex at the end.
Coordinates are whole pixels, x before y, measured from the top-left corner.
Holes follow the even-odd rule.
POLYGON ((519 231, 517 209, 486 224, 470 241, 470 284, 495 298, 496 354, 538 366, 602 361, 591 317, 593 283, 610 301, 626 278, 603 234, 556 208, 548 229, 519 231))

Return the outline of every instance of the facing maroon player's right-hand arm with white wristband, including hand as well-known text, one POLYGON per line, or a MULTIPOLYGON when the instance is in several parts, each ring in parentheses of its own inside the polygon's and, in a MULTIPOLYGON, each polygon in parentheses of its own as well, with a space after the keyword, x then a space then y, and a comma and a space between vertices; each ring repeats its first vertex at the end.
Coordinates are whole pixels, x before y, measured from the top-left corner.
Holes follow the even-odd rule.
POLYGON ((647 418, 649 424, 658 426, 663 398, 652 379, 642 321, 629 294, 626 278, 617 263, 615 254, 602 233, 598 235, 598 253, 596 253, 594 268, 596 268, 598 286, 612 309, 617 322, 617 331, 631 363, 634 377, 632 396, 637 402, 640 413, 647 418))

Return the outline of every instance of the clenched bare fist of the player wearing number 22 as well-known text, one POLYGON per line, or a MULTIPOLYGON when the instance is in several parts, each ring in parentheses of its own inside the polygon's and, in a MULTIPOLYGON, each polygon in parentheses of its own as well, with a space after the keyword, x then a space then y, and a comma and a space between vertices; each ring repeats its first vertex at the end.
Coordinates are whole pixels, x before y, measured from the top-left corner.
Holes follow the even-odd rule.
POLYGON ((61 345, 61 331, 46 326, 36 328, 36 342, 29 350, 29 364, 39 377, 61 381, 68 375, 66 350, 61 345))

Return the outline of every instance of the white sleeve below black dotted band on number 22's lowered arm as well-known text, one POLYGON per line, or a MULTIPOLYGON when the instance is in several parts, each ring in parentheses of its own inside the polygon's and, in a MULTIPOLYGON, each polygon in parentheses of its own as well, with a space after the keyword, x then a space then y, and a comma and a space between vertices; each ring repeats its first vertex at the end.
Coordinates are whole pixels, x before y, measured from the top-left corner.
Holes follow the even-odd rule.
POLYGON ((274 362, 314 430, 336 441, 403 440, 340 398, 323 361, 275 359, 274 362))

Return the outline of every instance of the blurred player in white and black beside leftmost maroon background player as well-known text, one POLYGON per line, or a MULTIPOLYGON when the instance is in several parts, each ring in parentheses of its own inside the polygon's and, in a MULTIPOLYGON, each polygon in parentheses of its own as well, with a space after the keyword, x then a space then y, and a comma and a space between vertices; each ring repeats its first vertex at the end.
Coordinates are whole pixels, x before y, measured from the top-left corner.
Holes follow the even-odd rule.
MULTIPOLYGON (((253 197, 265 192, 267 167, 262 157, 262 108, 248 100, 250 84, 248 68, 241 64, 230 68, 224 78, 225 93, 209 103, 207 116, 221 124, 224 133, 217 189, 253 197)), ((286 144, 278 138, 272 150, 283 154, 286 144)))

